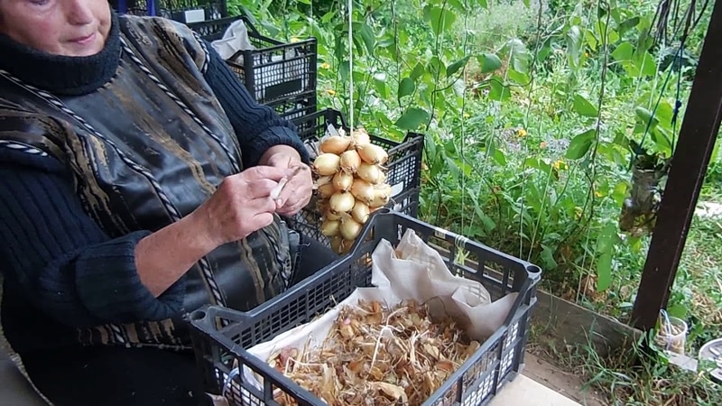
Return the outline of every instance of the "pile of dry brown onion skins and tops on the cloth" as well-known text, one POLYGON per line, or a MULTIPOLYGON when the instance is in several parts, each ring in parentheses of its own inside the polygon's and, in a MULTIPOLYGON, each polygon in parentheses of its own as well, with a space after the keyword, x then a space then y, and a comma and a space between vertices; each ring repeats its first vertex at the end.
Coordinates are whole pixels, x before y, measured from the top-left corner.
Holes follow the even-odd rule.
MULTIPOLYGON (((478 348, 425 305, 362 300, 340 310, 322 346, 283 348, 269 364, 332 406, 421 405, 478 348)), ((298 404, 282 391, 274 399, 298 404)))

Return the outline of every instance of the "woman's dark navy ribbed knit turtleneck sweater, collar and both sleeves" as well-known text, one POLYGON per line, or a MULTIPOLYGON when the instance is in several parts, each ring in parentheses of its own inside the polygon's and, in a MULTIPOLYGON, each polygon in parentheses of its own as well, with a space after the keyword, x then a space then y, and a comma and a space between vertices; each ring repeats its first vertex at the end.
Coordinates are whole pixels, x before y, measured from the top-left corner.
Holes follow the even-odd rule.
MULTIPOLYGON (((112 79, 118 67, 118 36, 115 21, 105 50, 88 58, 42 54, 0 36, 0 69, 60 97, 84 95, 112 79)), ((257 105, 207 47, 205 78, 236 131, 244 166, 257 163, 273 144, 292 145, 308 161, 292 125, 257 105)), ((137 274, 134 247, 150 233, 108 237, 84 212, 72 175, 60 161, 0 143, 2 321, 14 349, 23 353, 71 345, 77 342, 77 328, 162 319, 178 312, 181 282, 155 298, 137 274)))

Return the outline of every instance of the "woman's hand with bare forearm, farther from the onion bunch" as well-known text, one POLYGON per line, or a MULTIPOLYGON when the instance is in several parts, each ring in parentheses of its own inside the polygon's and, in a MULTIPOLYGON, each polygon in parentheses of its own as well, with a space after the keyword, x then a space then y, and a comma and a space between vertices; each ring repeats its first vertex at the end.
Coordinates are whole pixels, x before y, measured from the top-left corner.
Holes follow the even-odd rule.
POLYGON ((245 238, 273 222, 271 190, 287 171, 255 166, 227 177, 194 213, 199 233, 213 246, 245 238))

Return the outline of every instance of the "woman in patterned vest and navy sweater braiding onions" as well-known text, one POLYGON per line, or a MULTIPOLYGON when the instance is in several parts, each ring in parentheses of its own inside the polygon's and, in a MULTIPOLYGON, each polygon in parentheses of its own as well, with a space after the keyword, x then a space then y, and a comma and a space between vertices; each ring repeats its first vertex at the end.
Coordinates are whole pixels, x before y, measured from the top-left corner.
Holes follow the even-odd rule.
POLYGON ((32 382, 57 405, 203 401, 184 316, 332 260, 281 220, 308 159, 184 25, 0 0, 2 321, 32 382))

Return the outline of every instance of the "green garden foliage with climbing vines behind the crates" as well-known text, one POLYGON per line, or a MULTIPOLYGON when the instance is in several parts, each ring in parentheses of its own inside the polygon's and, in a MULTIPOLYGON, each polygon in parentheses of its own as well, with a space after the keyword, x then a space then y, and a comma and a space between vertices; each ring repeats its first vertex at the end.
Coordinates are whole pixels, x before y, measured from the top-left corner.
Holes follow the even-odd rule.
MULTIPOLYGON (((671 156, 684 115, 682 105, 672 120, 678 78, 684 103, 694 69, 662 63, 670 52, 650 35, 656 4, 355 1, 350 49, 347 2, 230 4, 277 38, 317 39, 320 106, 353 109, 354 125, 389 139, 426 134, 423 220, 538 263, 544 288, 625 317, 649 240, 617 224, 630 145, 671 156)), ((701 21, 686 60, 699 54, 708 14, 701 21)), ((708 185, 722 179, 719 162, 708 185)), ((682 281, 714 286, 711 274, 682 281)), ((671 311, 718 326, 690 283, 672 292, 671 311)))

